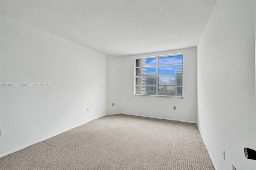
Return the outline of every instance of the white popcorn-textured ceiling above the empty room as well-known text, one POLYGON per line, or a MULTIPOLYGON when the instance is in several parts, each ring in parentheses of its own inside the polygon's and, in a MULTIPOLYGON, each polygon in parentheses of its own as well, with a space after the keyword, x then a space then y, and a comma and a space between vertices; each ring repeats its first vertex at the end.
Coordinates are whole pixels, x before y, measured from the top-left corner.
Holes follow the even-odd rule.
POLYGON ((123 56, 195 47, 215 2, 1 0, 1 13, 123 56))

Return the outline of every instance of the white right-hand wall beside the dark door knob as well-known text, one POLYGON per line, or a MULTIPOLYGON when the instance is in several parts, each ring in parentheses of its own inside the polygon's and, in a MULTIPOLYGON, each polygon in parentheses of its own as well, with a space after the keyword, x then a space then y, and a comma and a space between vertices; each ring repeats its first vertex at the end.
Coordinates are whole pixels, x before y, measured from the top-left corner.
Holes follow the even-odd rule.
POLYGON ((255 1, 217 1, 197 52, 198 125, 214 163, 255 170, 243 151, 256 149, 255 1))

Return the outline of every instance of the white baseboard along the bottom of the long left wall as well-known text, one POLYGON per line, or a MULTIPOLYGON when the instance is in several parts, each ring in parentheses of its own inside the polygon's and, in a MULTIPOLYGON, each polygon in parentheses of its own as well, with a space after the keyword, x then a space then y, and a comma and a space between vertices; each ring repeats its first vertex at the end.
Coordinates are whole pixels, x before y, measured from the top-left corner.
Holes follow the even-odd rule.
MULTIPOLYGON (((102 115, 102 116, 100 116, 100 117, 104 117, 104 116, 106 116, 106 114, 105 114, 105 115, 102 115)), ((38 143, 38 142, 42 142, 42 141, 44 141, 44 140, 46 140, 46 139, 49 139, 49 138, 51 138, 51 137, 53 137, 53 136, 57 136, 58 134, 61 134, 61 133, 63 133, 63 132, 66 132, 66 131, 68 131, 68 130, 71 130, 71 129, 73 129, 73 128, 80 127, 80 126, 82 126, 82 125, 84 125, 84 124, 86 124, 86 123, 88 123, 88 122, 90 122, 90 121, 93 121, 93 120, 95 120, 95 119, 99 119, 100 117, 96 117, 96 118, 91 119, 91 120, 89 120, 89 121, 80 123, 79 125, 76 125, 76 126, 74 126, 74 127, 72 127, 72 128, 68 128, 68 129, 63 130, 63 131, 61 131, 61 132, 58 132, 58 133, 56 133, 56 134, 50 135, 50 136, 48 136, 48 137, 46 137, 46 138, 42 138, 42 139, 40 139, 40 140, 37 140, 36 142, 32 142, 32 143, 27 144, 27 145, 25 145, 25 146, 22 146, 22 147, 20 147, 20 148, 11 150, 10 152, 6 152, 6 153, 4 153, 4 154, 1 154, 1 155, 0 155, 0 158, 6 156, 6 155, 8 155, 8 154, 11 154, 11 153, 13 153, 13 152, 17 152, 18 150, 22 150, 22 149, 24 149, 24 148, 27 148, 28 146, 31 146, 31 145, 36 144, 36 143, 38 143)))

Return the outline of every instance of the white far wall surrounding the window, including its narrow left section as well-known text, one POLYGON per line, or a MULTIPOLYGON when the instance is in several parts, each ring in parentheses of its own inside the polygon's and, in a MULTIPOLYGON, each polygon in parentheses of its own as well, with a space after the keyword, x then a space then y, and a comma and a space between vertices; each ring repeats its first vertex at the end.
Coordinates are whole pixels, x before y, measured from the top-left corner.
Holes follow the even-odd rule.
POLYGON ((121 113, 147 117, 158 117, 190 122, 197 121, 196 47, 157 53, 130 55, 120 58, 121 68, 119 64, 120 59, 116 60, 117 57, 113 58, 107 56, 107 80, 114 80, 108 82, 107 89, 110 89, 113 93, 108 93, 107 103, 110 105, 114 103, 114 101, 121 101, 121 109, 114 110, 107 107, 107 114, 117 113, 117 111, 120 111, 121 113), (184 53, 184 98, 134 96, 134 58, 175 53, 184 53), (113 75, 110 70, 122 72, 117 75, 113 75), (115 79, 113 79, 113 76, 116 76, 115 79), (118 88, 121 87, 119 91, 115 91, 117 86, 118 88), (111 100, 113 100, 113 102, 111 100), (176 110, 173 110, 173 106, 176 106, 176 110))

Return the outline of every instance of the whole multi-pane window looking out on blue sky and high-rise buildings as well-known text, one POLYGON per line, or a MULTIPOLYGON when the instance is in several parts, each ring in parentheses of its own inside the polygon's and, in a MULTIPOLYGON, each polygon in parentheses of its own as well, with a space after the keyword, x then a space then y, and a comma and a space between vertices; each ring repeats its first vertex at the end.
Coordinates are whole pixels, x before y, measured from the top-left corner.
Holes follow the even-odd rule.
POLYGON ((135 59, 135 95, 183 97, 183 53, 135 59))

